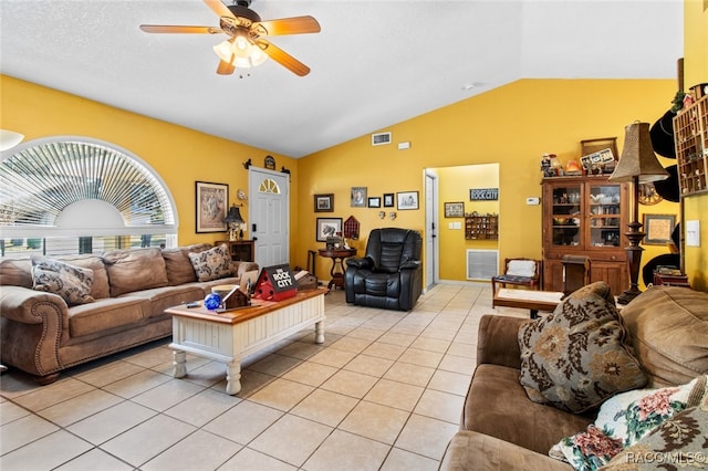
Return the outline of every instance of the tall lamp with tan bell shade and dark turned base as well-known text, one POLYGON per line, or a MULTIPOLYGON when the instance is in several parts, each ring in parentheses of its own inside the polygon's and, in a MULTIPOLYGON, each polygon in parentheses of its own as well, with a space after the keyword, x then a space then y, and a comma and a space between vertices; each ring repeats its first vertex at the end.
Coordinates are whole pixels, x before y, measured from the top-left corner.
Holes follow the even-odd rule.
POLYGON ((649 124, 635 122, 627 125, 622 156, 610 176, 610 181, 632 182, 632 221, 627 224, 629 231, 625 232, 629 241, 629 245, 625 248, 629 266, 629 289, 617 297, 620 304, 627 304, 642 293, 637 286, 637 280, 639 279, 642 251, 644 251, 639 247, 639 242, 645 233, 642 232, 642 223, 638 221, 639 185, 666 178, 668 178, 668 172, 662 167, 654 154, 654 147, 652 147, 649 124))

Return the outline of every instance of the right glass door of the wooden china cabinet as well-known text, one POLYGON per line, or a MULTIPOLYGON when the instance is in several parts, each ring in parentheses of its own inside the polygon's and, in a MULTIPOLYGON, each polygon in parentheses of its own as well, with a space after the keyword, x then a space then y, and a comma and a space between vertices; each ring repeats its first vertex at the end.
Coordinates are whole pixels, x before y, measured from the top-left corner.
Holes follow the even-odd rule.
POLYGON ((622 196, 620 185, 592 185, 587 195, 590 245, 620 247, 622 237, 622 196))

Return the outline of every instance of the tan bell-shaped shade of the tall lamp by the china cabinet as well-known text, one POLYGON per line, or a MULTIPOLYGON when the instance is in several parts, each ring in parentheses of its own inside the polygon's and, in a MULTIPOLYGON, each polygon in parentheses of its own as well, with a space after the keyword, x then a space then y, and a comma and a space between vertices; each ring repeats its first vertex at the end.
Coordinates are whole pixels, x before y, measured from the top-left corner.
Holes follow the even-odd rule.
POLYGON ((633 181, 639 184, 668 178, 668 172, 656 158, 652 146, 648 123, 632 123, 625 127, 622 156, 610 176, 612 181, 633 181))

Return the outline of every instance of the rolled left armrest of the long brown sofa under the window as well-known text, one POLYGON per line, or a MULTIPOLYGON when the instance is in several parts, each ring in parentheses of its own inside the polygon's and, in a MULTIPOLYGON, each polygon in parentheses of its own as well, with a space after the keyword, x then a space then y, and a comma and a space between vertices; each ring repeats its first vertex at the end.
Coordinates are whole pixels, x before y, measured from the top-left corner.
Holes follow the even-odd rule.
POLYGON ((55 294, 0 289, 2 362, 39 377, 62 369, 59 348, 69 339, 69 307, 55 294))

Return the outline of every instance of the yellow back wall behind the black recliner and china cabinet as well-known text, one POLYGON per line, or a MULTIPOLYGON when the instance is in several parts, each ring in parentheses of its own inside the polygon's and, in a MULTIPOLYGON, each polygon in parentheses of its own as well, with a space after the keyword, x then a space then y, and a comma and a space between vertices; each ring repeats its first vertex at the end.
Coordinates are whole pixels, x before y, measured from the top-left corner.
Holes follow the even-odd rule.
MULTIPOLYGON (((301 159, 298 198, 312 201, 314 193, 335 193, 333 214, 353 214, 362 222, 363 250, 377 227, 424 230, 425 213, 400 211, 398 219, 382 224, 376 211, 348 207, 352 186, 368 186, 369 193, 416 190, 423 201, 425 168, 499 163, 500 260, 540 258, 541 206, 527 206, 525 199, 541 195, 541 156, 554 153, 566 163, 580 157, 581 140, 608 136, 617 136, 622 149, 625 126, 635 119, 654 123, 675 93, 675 80, 521 80, 382 129, 393 133, 392 145, 373 147, 366 135, 301 159), (410 149, 398 150, 399 142, 410 142, 410 149)), ((677 205, 663 205, 652 212, 678 213, 677 205)), ((312 209, 302 209, 295 257, 317 245, 315 217, 312 209)), ((446 252, 440 258, 449 257, 459 273, 464 249, 449 253, 441 244, 440 250, 446 252)), ((644 260, 665 252, 649 247, 644 260)))

